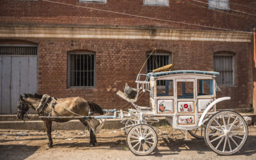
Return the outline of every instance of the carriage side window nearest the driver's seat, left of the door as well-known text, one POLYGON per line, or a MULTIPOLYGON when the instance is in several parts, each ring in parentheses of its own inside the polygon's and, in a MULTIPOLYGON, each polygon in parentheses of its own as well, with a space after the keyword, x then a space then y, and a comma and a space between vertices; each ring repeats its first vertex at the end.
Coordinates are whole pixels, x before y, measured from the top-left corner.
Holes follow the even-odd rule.
POLYGON ((157 96, 173 96, 173 80, 157 80, 157 81, 156 81, 157 96), (164 81, 164 86, 160 84, 160 81, 164 81))

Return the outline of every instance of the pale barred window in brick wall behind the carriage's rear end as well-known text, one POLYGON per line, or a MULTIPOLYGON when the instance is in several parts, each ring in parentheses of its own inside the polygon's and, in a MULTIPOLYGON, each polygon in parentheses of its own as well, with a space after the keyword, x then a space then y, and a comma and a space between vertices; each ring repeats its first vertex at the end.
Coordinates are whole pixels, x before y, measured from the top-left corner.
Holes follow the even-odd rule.
POLYGON ((213 56, 213 60, 214 71, 220 73, 216 76, 216 83, 220 85, 234 84, 234 56, 216 54, 213 56))

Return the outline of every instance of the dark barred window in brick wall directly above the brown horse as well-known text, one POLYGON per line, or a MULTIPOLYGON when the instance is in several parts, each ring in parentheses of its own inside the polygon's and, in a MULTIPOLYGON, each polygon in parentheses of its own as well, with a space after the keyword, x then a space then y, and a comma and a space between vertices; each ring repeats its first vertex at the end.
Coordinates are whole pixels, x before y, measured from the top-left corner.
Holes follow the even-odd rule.
POLYGON ((70 88, 95 86, 95 54, 93 52, 68 53, 68 86, 70 88))

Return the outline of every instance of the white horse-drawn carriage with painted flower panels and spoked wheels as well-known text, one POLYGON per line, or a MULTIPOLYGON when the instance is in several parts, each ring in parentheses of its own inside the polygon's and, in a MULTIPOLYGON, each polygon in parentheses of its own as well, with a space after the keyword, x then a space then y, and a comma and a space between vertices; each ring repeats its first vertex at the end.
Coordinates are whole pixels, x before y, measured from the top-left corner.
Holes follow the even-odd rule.
POLYGON ((234 154, 243 147, 248 127, 235 111, 216 110, 216 103, 230 97, 216 99, 215 77, 218 72, 177 70, 138 74, 135 97, 118 91, 136 109, 121 111, 125 118, 127 145, 136 155, 148 155, 157 147, 157 134, 148 122, 158 122, 164 116, 173 129, 189 131, 195 138, 204 138, 208 147, 220 155, 234 154), (143 79, 143 80, 141 80, 143 79), (150 106, 136 104, 142 92, 149 92, 150 106))

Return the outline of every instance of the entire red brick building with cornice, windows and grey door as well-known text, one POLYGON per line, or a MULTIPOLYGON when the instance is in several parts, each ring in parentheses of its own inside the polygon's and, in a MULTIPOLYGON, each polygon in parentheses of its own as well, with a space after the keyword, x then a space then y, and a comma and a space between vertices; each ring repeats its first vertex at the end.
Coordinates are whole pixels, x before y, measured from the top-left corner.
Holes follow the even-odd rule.
POLYGON ((217 97, 231 97, 218 108, 250 109, 255 26, 253 0, 2 0, 0 113, 24 92, 118 108, 155 48, 143 72, 216 70, 217 97))

